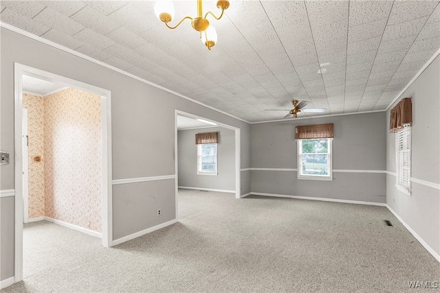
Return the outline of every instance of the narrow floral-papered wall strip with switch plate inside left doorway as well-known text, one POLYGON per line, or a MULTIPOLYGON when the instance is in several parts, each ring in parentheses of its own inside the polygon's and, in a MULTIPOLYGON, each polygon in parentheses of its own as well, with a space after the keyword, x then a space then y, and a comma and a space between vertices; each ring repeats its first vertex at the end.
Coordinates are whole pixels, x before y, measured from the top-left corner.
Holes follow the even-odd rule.
POLYGON ((30 219, 39 218, 44 213, 44 113, 43 97, 23 94, 23 108, 28 109, 28 159, 29 159, 29 211, 30 219), (32 161, 41 156, 41 161, 32 161))

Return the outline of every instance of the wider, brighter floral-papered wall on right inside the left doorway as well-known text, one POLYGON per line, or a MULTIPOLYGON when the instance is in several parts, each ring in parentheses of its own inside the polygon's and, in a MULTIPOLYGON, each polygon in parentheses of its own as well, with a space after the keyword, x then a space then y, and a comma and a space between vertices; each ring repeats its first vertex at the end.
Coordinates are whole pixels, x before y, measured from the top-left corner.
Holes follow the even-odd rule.
POLYGON ((100 95, 44 97, 45 215, 101 232, 100 95))

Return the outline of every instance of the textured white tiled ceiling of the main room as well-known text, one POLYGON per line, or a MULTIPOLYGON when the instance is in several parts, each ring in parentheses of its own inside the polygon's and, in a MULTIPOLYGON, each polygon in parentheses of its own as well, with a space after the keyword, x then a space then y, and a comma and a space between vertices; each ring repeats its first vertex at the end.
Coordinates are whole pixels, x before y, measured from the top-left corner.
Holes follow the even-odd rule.
MULTIPOLYGON (((174 3, 171 24, 195 16, 195 1, 174 3)), ((166 28, 154 1, 0 5, 3 23, 250 122, 282 119, 266 109, 292 99, 319 115, 384 110, 440 47, 439 1, 231 0, 211 51, 189 21, 166 28)))

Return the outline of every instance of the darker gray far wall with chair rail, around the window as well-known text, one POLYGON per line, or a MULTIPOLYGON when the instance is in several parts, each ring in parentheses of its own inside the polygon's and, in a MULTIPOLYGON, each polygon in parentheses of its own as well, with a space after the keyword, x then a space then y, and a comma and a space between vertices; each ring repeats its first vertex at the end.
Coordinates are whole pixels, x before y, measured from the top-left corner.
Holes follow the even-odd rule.
POLYGON ((251 127, 252 168, 297 169, 296 125, 333 123, 333 181, 298 180, 296 171, 252 170, 254 193, 365 202, 386 201, 385 112, 297 119, 251 127))

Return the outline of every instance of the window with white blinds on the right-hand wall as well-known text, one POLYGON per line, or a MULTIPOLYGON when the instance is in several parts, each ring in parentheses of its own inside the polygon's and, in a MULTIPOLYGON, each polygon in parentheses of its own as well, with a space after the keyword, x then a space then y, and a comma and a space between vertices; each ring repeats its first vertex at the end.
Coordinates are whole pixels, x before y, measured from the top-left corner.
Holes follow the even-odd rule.
POLYGON ((411 126, 405 125, 396 132, 396 187, 411 195, 411 126))

